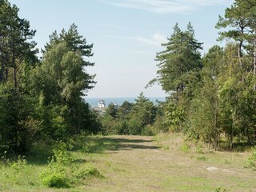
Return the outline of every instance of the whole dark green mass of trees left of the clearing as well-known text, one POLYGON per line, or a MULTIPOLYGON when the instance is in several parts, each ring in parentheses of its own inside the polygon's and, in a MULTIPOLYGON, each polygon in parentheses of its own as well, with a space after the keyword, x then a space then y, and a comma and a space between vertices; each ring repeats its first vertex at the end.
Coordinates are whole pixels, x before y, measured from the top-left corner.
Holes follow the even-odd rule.
POLYGON ((50 35, 39 59, 35 32, 17 6, 0 0, 0 153, 24 153, 35 141, 100 127, 83 99, 95 84, 86 72, 94 63, 85 59, 93 45, 73 24, 50 35))

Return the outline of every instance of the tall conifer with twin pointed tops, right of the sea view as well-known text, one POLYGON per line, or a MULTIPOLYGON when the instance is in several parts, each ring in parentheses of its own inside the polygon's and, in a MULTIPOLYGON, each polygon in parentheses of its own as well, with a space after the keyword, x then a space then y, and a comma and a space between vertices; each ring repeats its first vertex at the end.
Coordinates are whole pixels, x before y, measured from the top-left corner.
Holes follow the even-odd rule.
POLYGON ((194 75, 202 68, 202 43, 194 38, 194 29, 189 23, 186 31, 180 30, 178 23, 174 26, 174 33, 162 44, 166 50, 157 53, 158 78, 150 82, 159 82, 167 93, 175 91, 182 94, 194 75))

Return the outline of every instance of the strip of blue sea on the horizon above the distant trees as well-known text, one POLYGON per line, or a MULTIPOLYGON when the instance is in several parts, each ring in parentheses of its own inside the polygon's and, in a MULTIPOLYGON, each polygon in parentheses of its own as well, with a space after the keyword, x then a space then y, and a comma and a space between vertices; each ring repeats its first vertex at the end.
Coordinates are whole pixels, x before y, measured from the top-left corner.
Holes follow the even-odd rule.
MULTIPOLYGON (((98 101, 100 100, 104 100, 106 103, 106 106, 108 106, 111 102, 114 104, 118 104, 118 106, 121 106, 123 102, 131 102, 134 103, 136 102, 135 99, 137 97, 134 98, 85 98, 86 102, 89 103, 90 106, 94 107, 94 106, 98 106, 98 101)), ((166 102, 166 98, 165 97, 150 97, 149 98, 151 102, 154 102, 154 104, 158 102, 166 102)))

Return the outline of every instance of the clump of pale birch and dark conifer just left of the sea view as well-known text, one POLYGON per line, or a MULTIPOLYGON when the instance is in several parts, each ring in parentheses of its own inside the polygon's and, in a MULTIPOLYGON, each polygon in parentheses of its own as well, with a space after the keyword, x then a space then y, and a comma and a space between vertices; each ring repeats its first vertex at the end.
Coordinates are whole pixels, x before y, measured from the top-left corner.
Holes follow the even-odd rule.
POLYGON ((86 72, 85 67, 93 65, 84 60, 92 56, 92 46, 87 47, 81 38, 75 25, 68 32, 63 30, 58 40, 51 39, 42 65, 30 75, 31 90, 38 96, 36 112, 47 137, 64 139, 69 134, 96 133, 101 128, 83 98, 93 88, 94 75, 86 72))

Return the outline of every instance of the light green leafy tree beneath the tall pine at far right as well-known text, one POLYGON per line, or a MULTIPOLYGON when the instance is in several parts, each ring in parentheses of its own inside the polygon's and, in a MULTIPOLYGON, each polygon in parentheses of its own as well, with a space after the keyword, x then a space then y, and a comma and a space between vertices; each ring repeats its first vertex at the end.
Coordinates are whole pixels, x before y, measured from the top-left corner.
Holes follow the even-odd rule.
MULTIPOLYGON (((243 81, 241 80, 239 58, 234 57, 236 50, 237 45, 230 44, 226 46, 224 50, 225 60, 220 70, 220 83, 218 86, 220 97, 220 126, 226 135, 229 136, 230 150, 233 148, 234 137, 244 132, 242 122, 243 119, 246 119, 247 114, 243 114, 243 108, 249 104, 245 102, 248 97, 246 93, 248 90, 253 90, 253 87, 250 87, 250 83, 247 83, 246 76, 243 81)), ((250 102, 249 105, 254 106, 254 103, 250 102)))

